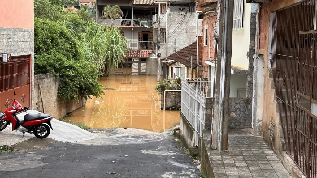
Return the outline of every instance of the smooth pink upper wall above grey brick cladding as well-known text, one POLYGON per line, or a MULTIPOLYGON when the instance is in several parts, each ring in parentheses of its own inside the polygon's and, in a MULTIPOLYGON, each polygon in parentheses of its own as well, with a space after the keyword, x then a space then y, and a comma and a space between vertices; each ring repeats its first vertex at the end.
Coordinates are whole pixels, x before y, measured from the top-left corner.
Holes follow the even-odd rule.
POLYGON ((33 0, 0 0, 0 27, 33 29, 33 0))

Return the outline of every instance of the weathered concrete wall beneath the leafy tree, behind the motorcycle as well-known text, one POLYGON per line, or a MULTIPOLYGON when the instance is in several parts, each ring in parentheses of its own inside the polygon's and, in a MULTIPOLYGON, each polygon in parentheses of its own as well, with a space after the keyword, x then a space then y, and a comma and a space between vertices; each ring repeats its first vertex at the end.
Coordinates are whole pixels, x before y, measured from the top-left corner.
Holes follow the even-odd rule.
POLYGON ((78 101, 71 100, 63 103, 57 99, 57 90, 59 78, 54 73, 46 73, 34 76, 34 94, 32 96, 33 108, 37 111, 43 111, 42 102, 38 84, 41 85, 42 97, 44 103, 44 111, 46 114, 53 115, 56 119, 62 118, 68 112, 72 112, 85 103, 85 99, 78 101))

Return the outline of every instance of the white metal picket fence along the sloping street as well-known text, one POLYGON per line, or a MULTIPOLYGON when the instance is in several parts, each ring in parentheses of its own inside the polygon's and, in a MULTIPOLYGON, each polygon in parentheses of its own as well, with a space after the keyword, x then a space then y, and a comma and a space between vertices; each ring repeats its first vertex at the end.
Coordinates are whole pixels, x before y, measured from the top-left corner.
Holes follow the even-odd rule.
POLYGON ((182 80, 181 111, 195 129, 195 146, 198 146, 199 138, 202 136, 202 130, 205 128, 205 93, 207 92, 207 87, 207 81, 182 80))

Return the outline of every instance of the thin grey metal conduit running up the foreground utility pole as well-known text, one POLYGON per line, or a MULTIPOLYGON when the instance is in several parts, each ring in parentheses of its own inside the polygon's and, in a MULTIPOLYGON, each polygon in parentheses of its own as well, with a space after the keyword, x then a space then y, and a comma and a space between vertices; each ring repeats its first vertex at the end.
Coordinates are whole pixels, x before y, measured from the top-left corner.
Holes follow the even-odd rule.
POLYGON ((224 38, 223 38, 223 63, 222 63, 222 84, 221 84, 221 105, 220 105, 220 132, 219 132, 219 151, 222 151, 222 130, 223 130, 223 107, 224 107, 224 78, 225 78, 225 66, 226 66, 226 50, 227 50, 227 28, 228 28, 228 6, 229 6, 229 1, 225 0, 225 16, 224 16, 224 38))

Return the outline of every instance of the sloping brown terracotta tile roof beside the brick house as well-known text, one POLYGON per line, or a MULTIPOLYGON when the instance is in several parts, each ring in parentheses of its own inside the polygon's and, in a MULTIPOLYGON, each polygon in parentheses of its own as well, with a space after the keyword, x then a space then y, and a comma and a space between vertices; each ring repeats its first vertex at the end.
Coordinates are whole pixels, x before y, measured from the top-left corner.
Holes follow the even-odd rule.
POLYGON ((191 43, 189 46, 171 54, 166 59, 176 60, 187 67, 191 67, 191 56, 193 56, 193 67, 197 67, 197 41, 191 43))

